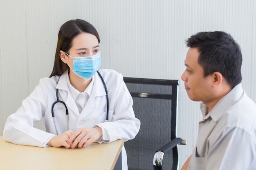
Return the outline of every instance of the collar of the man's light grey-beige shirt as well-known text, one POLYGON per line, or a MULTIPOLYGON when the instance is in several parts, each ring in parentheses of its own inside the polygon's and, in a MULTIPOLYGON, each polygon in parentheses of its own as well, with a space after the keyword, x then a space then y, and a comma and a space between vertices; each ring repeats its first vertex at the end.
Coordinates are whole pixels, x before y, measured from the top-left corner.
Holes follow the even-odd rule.
POLYGON ((202 102, 200 104, 200 109, 203 115, 203 120, 208 119, 211 117, 214 121, 218 121, 222 115, 226 112, 227 108, 229 108, 231 105, 233 105, 241 96, 243 95, 243 88, 242 84, 236 85, 227 95, 222 97, 216 105, 213 107, 211 112, 207 114, 208 108, 207 106, 202 102))

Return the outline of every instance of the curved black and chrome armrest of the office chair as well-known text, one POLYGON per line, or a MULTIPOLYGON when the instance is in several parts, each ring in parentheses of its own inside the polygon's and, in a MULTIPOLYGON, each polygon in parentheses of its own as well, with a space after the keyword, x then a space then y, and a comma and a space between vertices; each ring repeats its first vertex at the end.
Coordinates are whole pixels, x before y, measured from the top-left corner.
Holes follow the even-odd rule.
POLYGON ((171 140, 170 142, 168 142, 166 145, 164 145, 155 152, 153 159, 154 170, 162 170, 164 153, 174 148, 177 144, 186 145, 186 140, 179 137, 174 138, 173 140, 171 140))

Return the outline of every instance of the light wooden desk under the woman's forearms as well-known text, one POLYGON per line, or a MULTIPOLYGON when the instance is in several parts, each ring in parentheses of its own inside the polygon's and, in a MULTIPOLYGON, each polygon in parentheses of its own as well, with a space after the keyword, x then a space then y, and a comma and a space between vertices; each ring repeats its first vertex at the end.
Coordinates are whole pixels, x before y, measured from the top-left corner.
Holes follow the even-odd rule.
POLYGON ((113 170, 124 139, 86 148, 15 145, 0 136, 1 170, 113 170))

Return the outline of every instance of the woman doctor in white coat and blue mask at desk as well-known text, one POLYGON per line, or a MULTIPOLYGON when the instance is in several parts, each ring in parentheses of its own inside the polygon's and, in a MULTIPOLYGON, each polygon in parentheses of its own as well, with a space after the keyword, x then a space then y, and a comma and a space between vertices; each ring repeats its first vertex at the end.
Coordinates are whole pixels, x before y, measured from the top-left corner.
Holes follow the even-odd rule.
MULTIPOLYGON (((61 26, 52 74, 40 79, 22 106, 8 117, 4 140, 39 147, 84 148, 94 141, 135 138, 140 121, 135 118, 122 75, 110 69, 97 73, 99 42, 97 30, 84 20, 69 20, 61 26), (33 127, 42 117, 46 132, 33 127)), ((122 168, 127 170, 124 148, 122 168)))

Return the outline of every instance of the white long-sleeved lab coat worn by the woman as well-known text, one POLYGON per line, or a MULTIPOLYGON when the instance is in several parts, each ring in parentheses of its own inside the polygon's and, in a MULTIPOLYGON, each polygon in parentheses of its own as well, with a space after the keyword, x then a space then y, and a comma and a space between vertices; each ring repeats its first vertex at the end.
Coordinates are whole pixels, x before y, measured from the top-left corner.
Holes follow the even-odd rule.
MULTIPOLYGON (((57 134, 67 131, 67 119, 63 104, 54 106, 56 128, 52 118, 52 104, 56 101, 56 88, 59 99, 67 105, 69 112, 69 129, 76 131, 81 127, 99 126, 103 132, 103 142, 117 139, 128 141, 135 138, 140 128, 139 119, 135 118, 132 109, 132 97, 124 83, 123 76, 114 70, 99 70, 109 95, 109 122, 106 120, 106 92, 101 79, 95 73, 92 93, 81 114, 67 85, 66 71, 59 76, 40 79, 34 91, 23 100, 22 106, 7 118, 4 126, 4 140, 14 144, 46 147, 47 142, 57 134), (58 81, 58 84, 57 84, 58 81), (46 132, 34 128, 34 124, 45 118, 46 132)), ((98 141, 101 143, 102 141, 98 141)), ((126 164, 126 151, 122 149, 122 163, 126 164)), ((123 165, 123 169, 127 169, 123 165)))

